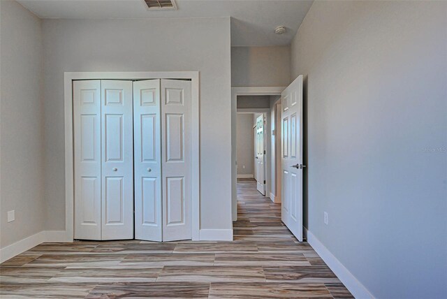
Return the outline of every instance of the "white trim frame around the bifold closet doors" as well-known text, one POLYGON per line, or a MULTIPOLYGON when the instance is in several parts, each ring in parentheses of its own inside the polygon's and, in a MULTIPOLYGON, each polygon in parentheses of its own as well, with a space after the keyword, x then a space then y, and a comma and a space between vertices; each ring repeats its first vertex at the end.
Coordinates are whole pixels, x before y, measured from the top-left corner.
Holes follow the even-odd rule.
POLYGON ((200 240, 200 125, 199 72, 65 72, 65 240, 73 242, 74 177, 73 177, 73 80, 149 80, 191 79, 191 217, 192 240, 200 240))

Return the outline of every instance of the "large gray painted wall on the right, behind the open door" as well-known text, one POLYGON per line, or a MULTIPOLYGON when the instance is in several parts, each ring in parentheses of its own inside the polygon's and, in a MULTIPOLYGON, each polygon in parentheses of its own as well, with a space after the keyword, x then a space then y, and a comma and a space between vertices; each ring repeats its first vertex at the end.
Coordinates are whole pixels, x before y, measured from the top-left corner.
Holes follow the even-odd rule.
POLYGON ((447 2, 315 1, 291 53, 307 228, 376 298, 445 298, 447 2))

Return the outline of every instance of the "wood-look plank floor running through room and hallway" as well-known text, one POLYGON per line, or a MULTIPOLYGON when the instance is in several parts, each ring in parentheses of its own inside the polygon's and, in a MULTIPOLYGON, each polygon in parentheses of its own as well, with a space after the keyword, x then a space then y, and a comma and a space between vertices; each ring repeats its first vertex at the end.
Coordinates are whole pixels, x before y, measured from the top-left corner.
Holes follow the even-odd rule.
POLYGON ((44 243, 0 265, 1 298, 353 298, 281 206, 237 182, 233 242, 44 243))

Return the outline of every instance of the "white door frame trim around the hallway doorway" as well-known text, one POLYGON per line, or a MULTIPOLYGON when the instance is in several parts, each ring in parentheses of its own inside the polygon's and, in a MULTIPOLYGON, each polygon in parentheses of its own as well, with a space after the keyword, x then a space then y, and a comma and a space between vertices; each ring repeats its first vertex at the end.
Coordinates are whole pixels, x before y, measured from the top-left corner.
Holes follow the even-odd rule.
MULTIPOLYGON (((236 169, 236 115, 237 112, 248 112, 237 109, 237 96, 277 96, 286 87, 231 87, 231 216, 237 220, 237 169, 236 169)), ((243 109, 243 108, 242 108, 243 109)), ((250 108, 250 111, 256 108, 250 108)), ((270 110, 266 108, 266 110, 270 110)))

